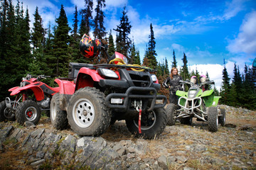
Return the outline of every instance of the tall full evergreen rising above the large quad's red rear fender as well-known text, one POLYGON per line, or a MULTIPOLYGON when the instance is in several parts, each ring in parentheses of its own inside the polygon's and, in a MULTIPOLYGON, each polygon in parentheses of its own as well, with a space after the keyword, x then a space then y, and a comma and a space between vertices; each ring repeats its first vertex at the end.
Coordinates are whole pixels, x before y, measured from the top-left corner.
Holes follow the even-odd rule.
POLYGON ((67 76, 68 62, 70 60, 68 55, 68 42, 70 41, 68 32, 70 27, 68 26, 68 18, 63 5, 61 5, 60 8, 60 16, 55 22, 57 23, 57 27, 53 40, 53 60, 51 63, 53 64, 54 72, 57 77, 67 76))

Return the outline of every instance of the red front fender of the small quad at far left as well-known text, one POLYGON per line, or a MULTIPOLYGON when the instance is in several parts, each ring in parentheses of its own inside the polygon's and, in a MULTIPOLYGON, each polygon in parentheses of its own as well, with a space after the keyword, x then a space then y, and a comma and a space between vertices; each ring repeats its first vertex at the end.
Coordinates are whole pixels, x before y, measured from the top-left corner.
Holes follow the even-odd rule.
POLYGON ((21 93, 21 91, 25 91, 25 90, 28 90, 28 89, 31 89, 33 91, 33 94, 36 97, 36 101, 43 100, 43 98, 44 98, 43 90, 40 87, 35 86, 34 84, 23 86, 23 87, 14 87, 14 88, 9 89, 9 91, 11 91, 10 95, 14 96, 16 94, 21 93))

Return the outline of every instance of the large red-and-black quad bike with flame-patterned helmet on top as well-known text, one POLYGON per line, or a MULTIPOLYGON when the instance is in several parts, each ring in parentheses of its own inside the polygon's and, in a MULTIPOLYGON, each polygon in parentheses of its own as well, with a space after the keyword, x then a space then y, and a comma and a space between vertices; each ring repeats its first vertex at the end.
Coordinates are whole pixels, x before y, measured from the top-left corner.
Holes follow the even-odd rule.
POLYGON ((164 131, 167 98, 158 95, 160 84, 153 69, 129 65, 127 57, 114 52, 110 58, 107 46, 84 35, 80 51, 85 57, 105 52, 110 64, 70 63, 69 78, 75 79, 74 94, 65 94, 70 86, 60 87, 53 96, 50 116, 55 127, 70 128, 78 135, 102 135, 111 123, 125 120, 127 128, 137 137, 157 137, 164 131), (63 89, 62 89, 63 88, 63 89), (64 112, 68 118, 65 119, 64 112), (57 119, 59 118, 59 119, 57 119))

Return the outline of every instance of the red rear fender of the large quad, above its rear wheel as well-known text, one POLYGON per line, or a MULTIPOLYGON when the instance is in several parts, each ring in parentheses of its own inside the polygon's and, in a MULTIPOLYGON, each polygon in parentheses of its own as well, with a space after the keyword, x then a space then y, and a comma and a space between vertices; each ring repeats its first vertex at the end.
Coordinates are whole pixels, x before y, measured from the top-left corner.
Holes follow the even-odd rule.
POLYGON ((68 80, 60 80, 55 79, 54 80, 60 87, 60 94, 74 94, 75 92, 75 84, 74 81, 68 81, 68 80))

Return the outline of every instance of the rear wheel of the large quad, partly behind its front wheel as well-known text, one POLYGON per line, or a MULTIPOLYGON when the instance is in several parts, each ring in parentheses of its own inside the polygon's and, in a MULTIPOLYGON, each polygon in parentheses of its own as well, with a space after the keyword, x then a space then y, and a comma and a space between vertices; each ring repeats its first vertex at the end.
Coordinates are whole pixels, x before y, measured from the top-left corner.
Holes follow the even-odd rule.
POLYGON ((53 95, 50 101, 50 122, 57 130, 68 128, 67 112, 60 110, 60 94, 53 95))

